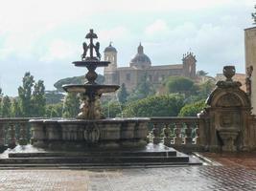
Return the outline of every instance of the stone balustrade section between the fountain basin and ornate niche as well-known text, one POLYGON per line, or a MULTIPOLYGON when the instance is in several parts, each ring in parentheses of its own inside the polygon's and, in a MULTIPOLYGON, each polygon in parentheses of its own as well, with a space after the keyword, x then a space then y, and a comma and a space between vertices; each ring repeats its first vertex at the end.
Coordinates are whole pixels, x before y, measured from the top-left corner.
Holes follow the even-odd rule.
POLYGON ((179 150, 202 150, 199 138, 204 122, 198 117, 151 117, 149 140, 179 150))

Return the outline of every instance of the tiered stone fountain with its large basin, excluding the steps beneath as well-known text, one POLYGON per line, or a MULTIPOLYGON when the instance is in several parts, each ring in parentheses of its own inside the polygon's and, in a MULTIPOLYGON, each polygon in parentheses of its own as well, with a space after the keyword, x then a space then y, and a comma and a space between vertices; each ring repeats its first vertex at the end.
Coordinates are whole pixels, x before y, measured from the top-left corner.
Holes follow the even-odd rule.
POLYGON ((101 96, 118 90, 118 85, 100 85, 95 82, 97 67, 110 62, 101 61, 100 43, 94 44, 97 34, 90 30, 82 44, 81 61, 76 67, 86 67, 87 82, 63 85, 68 93, 81 96, 81 113, 71 119, 35 119, 32 124, 32 142, 36 147, 48 149, 123 148, 143 147, 147 144, 148 118, 105 118, 101 112, 101 96))

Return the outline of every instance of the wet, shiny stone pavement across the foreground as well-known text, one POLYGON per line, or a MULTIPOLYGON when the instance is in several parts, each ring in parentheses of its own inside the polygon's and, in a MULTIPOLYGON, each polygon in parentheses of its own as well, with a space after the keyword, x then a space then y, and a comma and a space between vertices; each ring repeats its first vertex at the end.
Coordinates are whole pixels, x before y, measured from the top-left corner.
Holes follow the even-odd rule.
POLYGON ((0 190, 249 191, 256 171, 231 166, 114 170, 1 170, 0 190))

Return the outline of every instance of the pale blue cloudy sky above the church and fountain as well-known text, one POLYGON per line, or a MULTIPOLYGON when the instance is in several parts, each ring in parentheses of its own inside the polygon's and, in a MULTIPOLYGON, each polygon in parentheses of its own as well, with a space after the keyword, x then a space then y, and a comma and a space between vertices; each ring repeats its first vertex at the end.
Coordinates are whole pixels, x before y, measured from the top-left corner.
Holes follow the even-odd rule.
MULTIPOLYGON (((254 0, 0 0, 0 86, 17 95, 25 72, 54 89, 58 79, 85 74, 80 59, 89 29, 101 51, 113 42, 128 66, 139 42, 153 65, 181 63, 191 51, 211 75, 232 64, 244 73, 244 29, 254 0)), ((102 70, 98 71, 102 73, 102 70)))

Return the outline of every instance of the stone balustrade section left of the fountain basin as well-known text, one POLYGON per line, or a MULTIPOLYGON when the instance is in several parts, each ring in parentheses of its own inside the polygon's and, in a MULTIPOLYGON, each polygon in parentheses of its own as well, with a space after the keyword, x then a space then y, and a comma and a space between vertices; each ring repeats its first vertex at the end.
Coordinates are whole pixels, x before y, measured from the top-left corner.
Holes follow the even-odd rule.
POLYGON ((30 142, 30 119, 32 117, 0 118, 0 150, 30 142))

